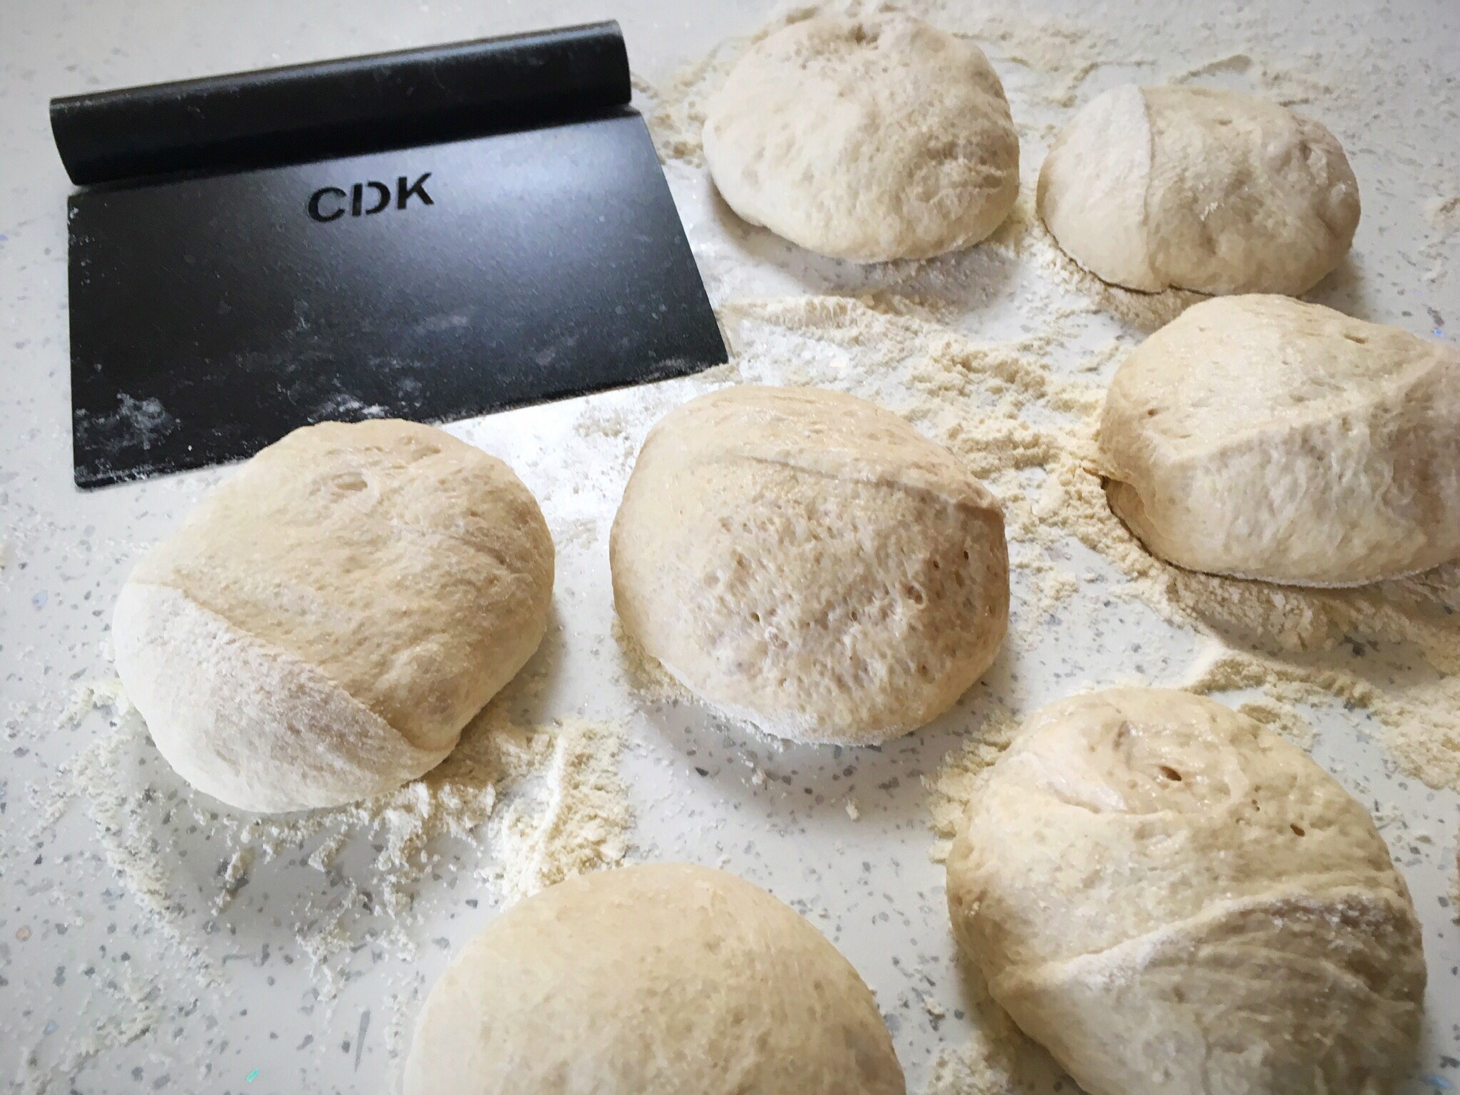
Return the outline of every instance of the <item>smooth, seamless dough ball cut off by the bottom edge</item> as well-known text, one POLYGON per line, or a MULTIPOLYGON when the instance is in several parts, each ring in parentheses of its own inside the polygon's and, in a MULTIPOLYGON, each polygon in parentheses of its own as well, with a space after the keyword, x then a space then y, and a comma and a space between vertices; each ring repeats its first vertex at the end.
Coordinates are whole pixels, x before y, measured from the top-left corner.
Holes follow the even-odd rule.
POLYGON ((764 889, 663 863, 512 907, 426 997, 406 1095, 902 1095, 876 1000, 764 889))

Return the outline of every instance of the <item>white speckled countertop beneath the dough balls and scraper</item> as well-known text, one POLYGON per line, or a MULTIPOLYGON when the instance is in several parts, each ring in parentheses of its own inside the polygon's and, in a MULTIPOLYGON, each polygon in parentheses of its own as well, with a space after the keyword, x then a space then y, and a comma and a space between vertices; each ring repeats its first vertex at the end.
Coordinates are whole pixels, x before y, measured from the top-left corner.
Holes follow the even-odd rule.
MULTIPOLYGON (((1105 63, 1072 85, 1076 101, 1126 79, 1197 69, 1199 79, 1229 86, 1308 88, 1302 110, 1339 134, 1364 196, 1353 257, 1311 298, 1421 334, 1460 336, 1460 237, 1445 237, 1425 215, 1437 199, 1460 193, 1454 0, 1040 0, 1021 4, 1019 15, 1012 9, 1013 20, 1034 19, 1032 9, 1104 32, 1105 63), (1327 91, 1311 92, 1310 72, 1321 72, 1327 91)), ((76 724, 61 715, 79 683, 110 672, 118 585, 220 476, 92 493, 72 485, 70 187, 51 145, 47 99, 603 18, 622 22, 635 72, 658 82, 720 39, 750 32, 766 12, 675 0, 0 0, 0 1083, 13 1083, 7 1091, 394 1092, 420 988, 495 908, 493 891, 470 870, 437 872, 420 886, 423 920, 410 927, 416 956, 364 931, 346 955, 339 991, 324 994, 293 926, 345 899, 349 854, 328 875, 288 857, 266 864, 218 915, 182 902, 180 945, 118 880, 85 803, 45 818, 69 780, 66 764, 107 727, 99 712, 76 724), (215 971, 210 980, 181 959, 194 948, 215 971)), ((1050 77, 1018 44, 986 48, 1016 118, 1032 123, 1023 134, 1028 184, 1042 156, 1041 124, 1069 110, 1032 93, 1037 79, 1050 77)), ((901 285, 952 296, 964 312, 959 326, 980 337, 1041 327, 1050 299, 1038 285, 1044 274, 1015 258, 955 258, 911 276, 816 260, 736 225, 701 171, 672 164, 667 174, 717 304, 901 285)), ((1121 333, 1114 320, 1094 323, 1105 324, 1095 334, 1121 333)), ((1057 366, 1077 353, 1063 352, 1069 359, 1056 352, 1057 366)), ((691 705, 638 702, 625 689, 612 638, 607 521, 647 420, 635 409, 663 409, 694 390, 692 381, 676 381, 453 426, 511 460, 543 499, 559 543, 556 618, 536 663, 548 686, 533 701, 534 715, 622 723, 639 815, 635 854, 726 866, 807 912, 877 991, 917 1091, 940 1048, 968 1041, 943 870, 927 854, 921 777, 977 730, 993 699, 1025 711, 1086 685, 1172 682, 1196 656, 1193 637, 1139 602, 1111 596, 1114 578, 1091 583, 1050 616, 1016 575, 1010 641, 986 680, 931 729, 882 750, 780 749, 691 705), (628 412, 623 435, 581 429, 585 416, 606 409, 628 412), (584 477, 584 467, 597 472, 584 477), (848 797, 860 818, 850 816, 848 797), (939 1009, 946 1018, 934 1018, 939 1009)), ((1067 558, 1098 568, 1088 555, 1070 548, 1067 558)), ((1383 661, 1378 679, 1403 677, 1415 661, 1405 650, 1369 657, 1383 661)), ((1383 832, 1425 923, 1426 1041, 1406 1092, 1450 1091, 1460 1085, 1460 929, 1447 898, 1460 799, 1405 777, 1378 743, 1359 736, 1361 715, 1326 707, 1311 717, 1320 734, 1314 756, 1386 819, 1383 832)), ((150 788, 155 804, 137 822, 143 841, 175 850, 178 892, 206 889, 226 853, 185 809, 191 793, 150 746, 123 759, 117 785, 150 788)), ((476 854, 469 845, 441 851, 444 861, 476 854)), ((1051 1075, 1044 1089, 1060 1083, 1070 1086, 1051 1075)))

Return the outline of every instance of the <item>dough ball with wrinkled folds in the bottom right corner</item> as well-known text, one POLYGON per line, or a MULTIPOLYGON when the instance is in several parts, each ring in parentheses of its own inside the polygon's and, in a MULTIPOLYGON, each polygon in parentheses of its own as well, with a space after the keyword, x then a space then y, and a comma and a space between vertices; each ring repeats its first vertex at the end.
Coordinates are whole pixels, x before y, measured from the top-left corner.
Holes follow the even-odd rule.
POLYGON ((1419 920, 1368 813, 1187 692, 1035 712, 948 901, 993 999, 1091 1095, 1380 1095, 1419 1035, 1419 920))

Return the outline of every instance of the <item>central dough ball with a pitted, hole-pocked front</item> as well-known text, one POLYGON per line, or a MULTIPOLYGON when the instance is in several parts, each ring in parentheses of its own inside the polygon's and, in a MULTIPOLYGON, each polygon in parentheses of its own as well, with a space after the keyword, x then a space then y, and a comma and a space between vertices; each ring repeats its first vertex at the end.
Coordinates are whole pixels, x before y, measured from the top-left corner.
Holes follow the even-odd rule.
POLYGON ((736 387, 644 441, 609 540, 625 631, 695 695, 799 742, 882 742, 999 653, 997 499, 866 400, 736 387))

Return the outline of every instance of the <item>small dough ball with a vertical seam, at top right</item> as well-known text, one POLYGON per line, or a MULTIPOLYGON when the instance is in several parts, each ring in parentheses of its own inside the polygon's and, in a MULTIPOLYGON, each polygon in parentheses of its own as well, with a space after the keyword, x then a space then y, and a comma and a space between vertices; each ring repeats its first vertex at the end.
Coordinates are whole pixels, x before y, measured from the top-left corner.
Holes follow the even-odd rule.
POLYGON ((1124 85, 1056 139, 1038 207, 1060 247, 1107 282, 1295 295, 1348 253, 1359 187, 1337 139, 1286 107, 1124 85))

